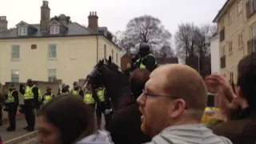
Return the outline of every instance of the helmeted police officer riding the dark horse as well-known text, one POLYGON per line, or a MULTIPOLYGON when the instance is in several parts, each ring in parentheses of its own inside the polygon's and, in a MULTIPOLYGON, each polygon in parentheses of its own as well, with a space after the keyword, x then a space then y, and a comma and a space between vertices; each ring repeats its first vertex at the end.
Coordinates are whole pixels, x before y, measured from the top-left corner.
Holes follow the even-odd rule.
MULTIPOLYGON (((142 42, 138 43, 135 48, 139 49, 140 58, 134 63, 134 67, 152 72, 157 67, 157 62, 154 55, 150 53, 150 46, 142 42)), ((130 67, 132 68, 132 66, 130 67)))

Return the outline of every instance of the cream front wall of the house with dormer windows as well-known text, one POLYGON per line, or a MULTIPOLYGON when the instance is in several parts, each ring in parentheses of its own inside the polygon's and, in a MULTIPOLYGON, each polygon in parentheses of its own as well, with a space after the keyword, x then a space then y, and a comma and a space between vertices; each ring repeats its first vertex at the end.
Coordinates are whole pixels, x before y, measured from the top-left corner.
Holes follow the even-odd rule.
POLYGON ((96 64, 97 43, 92 36, 69 38, 18 38, 0 40, 0 81, 10 82, 11 70, 19 70, 20 82, 27 78, 48 81, 48 69, 57 70, 57 79, 71 85, 86 78, 96 64), (31 50, 36 44, 37 49, 31 50), (57 58, 48 59, 48 45, 57 44, 57 58), (20 45, 20 59, 11 60, 11 46, 20 45))

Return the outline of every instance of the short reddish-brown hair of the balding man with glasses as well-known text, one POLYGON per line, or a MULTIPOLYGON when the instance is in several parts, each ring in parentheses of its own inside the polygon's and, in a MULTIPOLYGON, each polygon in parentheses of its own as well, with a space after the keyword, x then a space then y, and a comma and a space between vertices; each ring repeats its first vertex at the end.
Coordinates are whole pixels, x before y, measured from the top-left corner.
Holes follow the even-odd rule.
POLYGON ((193 118, 199 121, 207 104, 207 90, 205 82, 196 70, 182 64, 166 65, 166 87, 164 90, 174 97, 182 98, 186 102, 193 118))

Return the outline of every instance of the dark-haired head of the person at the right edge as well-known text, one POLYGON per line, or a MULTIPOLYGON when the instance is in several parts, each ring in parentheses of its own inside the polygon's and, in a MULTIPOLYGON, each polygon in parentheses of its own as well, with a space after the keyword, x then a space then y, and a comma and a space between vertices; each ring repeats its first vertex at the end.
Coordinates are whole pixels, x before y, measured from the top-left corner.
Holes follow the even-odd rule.
POLYGON ((247 55, 238 62, 237 95, 256 110, 256 53, 247 55))

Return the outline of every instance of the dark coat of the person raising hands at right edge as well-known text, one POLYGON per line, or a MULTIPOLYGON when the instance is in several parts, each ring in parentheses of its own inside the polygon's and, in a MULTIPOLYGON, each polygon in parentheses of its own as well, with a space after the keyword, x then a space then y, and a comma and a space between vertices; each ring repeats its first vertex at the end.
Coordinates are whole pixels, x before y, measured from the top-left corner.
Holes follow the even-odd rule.
POLYGON ((249 108, 242 110, 236 119, 214 126, 213 131, 229 138, 233 144, 255 144, 256 114, 249 108))

